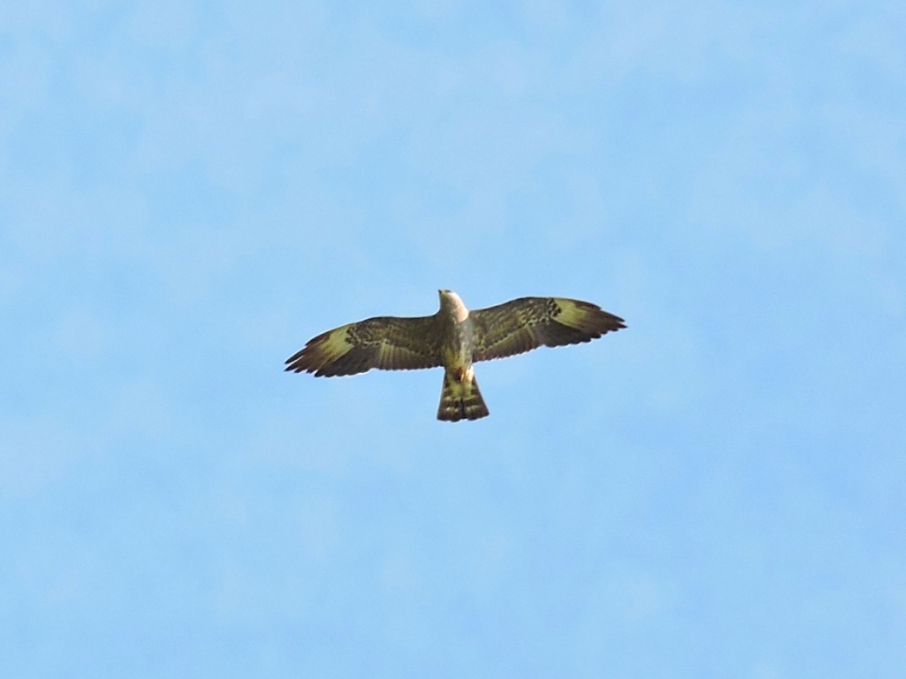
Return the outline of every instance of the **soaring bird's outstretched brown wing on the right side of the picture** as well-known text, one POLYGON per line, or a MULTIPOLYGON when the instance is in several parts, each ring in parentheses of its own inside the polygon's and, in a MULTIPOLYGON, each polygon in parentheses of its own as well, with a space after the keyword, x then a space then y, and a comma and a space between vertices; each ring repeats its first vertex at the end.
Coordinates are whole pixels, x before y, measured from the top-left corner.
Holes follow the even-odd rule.
POLYGON ((542 344, 578 344, 626 327, 595 304, 560 297, 523 297, 472 311, 469 318, 475 329, 473 360, 502 359, 542 344))

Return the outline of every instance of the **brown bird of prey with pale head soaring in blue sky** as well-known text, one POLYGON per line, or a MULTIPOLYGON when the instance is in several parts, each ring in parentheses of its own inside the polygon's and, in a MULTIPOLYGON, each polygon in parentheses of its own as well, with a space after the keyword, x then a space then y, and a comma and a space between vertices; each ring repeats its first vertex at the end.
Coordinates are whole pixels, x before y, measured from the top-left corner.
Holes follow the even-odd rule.
POLYGON ((433 316, 379 316, 310 339, 286 359, 286 370, 315 377, 355 375, 371 368, 444 368, 438 419, 488 415, 472 364, 524 351, 578 344, 625 328, 622 318, 587 301, 522 297, 469 311, 456 292, 440 290, 433 316))

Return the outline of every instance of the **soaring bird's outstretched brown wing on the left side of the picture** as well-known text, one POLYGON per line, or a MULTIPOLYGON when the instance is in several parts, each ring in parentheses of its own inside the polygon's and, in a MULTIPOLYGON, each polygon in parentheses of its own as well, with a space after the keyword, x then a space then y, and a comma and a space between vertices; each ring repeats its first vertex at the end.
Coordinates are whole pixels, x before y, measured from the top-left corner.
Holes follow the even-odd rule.
POLYGON ((355 375, 371 368, 410 370, 440 365, 440 338, 434 316, 378 318, 350 323, 309 339, 286 359, 286 369, 316 377, 355 375))

